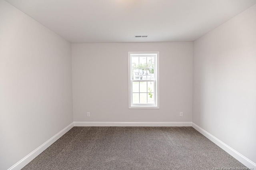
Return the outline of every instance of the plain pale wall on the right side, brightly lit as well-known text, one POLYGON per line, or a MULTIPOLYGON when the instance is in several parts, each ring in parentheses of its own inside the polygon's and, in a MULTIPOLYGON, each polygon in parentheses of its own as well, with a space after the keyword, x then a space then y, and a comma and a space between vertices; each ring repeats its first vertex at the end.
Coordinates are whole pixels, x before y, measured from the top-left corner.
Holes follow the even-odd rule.
POLYGON ((256 162, 256 5, 194 42, 193 122, 256 162))

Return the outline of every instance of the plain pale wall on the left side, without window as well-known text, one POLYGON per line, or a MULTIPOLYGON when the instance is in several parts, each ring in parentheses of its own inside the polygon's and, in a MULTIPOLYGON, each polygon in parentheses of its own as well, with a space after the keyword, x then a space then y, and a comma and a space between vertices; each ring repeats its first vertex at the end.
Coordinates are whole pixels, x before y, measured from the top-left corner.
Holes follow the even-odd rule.
POLYGON ((72 123, 71 44, 0 0, 0 169, 72 123))

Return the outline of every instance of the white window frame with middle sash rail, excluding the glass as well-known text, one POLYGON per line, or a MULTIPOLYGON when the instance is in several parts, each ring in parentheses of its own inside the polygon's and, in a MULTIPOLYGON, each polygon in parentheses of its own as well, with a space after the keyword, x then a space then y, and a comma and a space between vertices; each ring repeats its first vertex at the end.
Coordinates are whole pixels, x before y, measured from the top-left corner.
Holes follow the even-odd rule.
MULTIPOLYGON (((139 93, 140 94, 140 93, 139 93)), ((159 109, 159 51, 129 51, 128 52, 128 100, 129 100, 129 109, 159 109), (155 67, 154 73, 155 73, 155 80, 132 80, 132 68, 131 68, 131 62, 132 57, 131 55, 138 54, 138 55, 150 55, 154 54, 156 55, 155 67), (150 82, 155 81, 154 83, 154 100, 155 104, 133 104, 132 103, 132 82, 138 81, 138 82, 150 82)))

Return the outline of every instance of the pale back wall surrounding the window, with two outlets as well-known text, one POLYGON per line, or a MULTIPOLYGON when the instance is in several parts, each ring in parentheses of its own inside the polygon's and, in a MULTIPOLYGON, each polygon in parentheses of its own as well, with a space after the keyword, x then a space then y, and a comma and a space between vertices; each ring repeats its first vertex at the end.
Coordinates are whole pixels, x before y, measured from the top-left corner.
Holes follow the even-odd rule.
POLYGON ((192 54, 192 42, 72 44, 74 121, 192 121, 192 54), (160 51, 160 109, 128 109, 128 51, 160 51))

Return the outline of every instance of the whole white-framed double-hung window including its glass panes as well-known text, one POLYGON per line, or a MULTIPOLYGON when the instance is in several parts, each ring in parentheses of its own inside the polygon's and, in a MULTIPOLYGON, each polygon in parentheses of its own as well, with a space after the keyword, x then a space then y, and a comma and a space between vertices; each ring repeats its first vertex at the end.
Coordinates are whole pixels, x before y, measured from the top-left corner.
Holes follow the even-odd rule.
POLYGON ((159 52, 129 52, 129 108, 158 109, 159 52))

